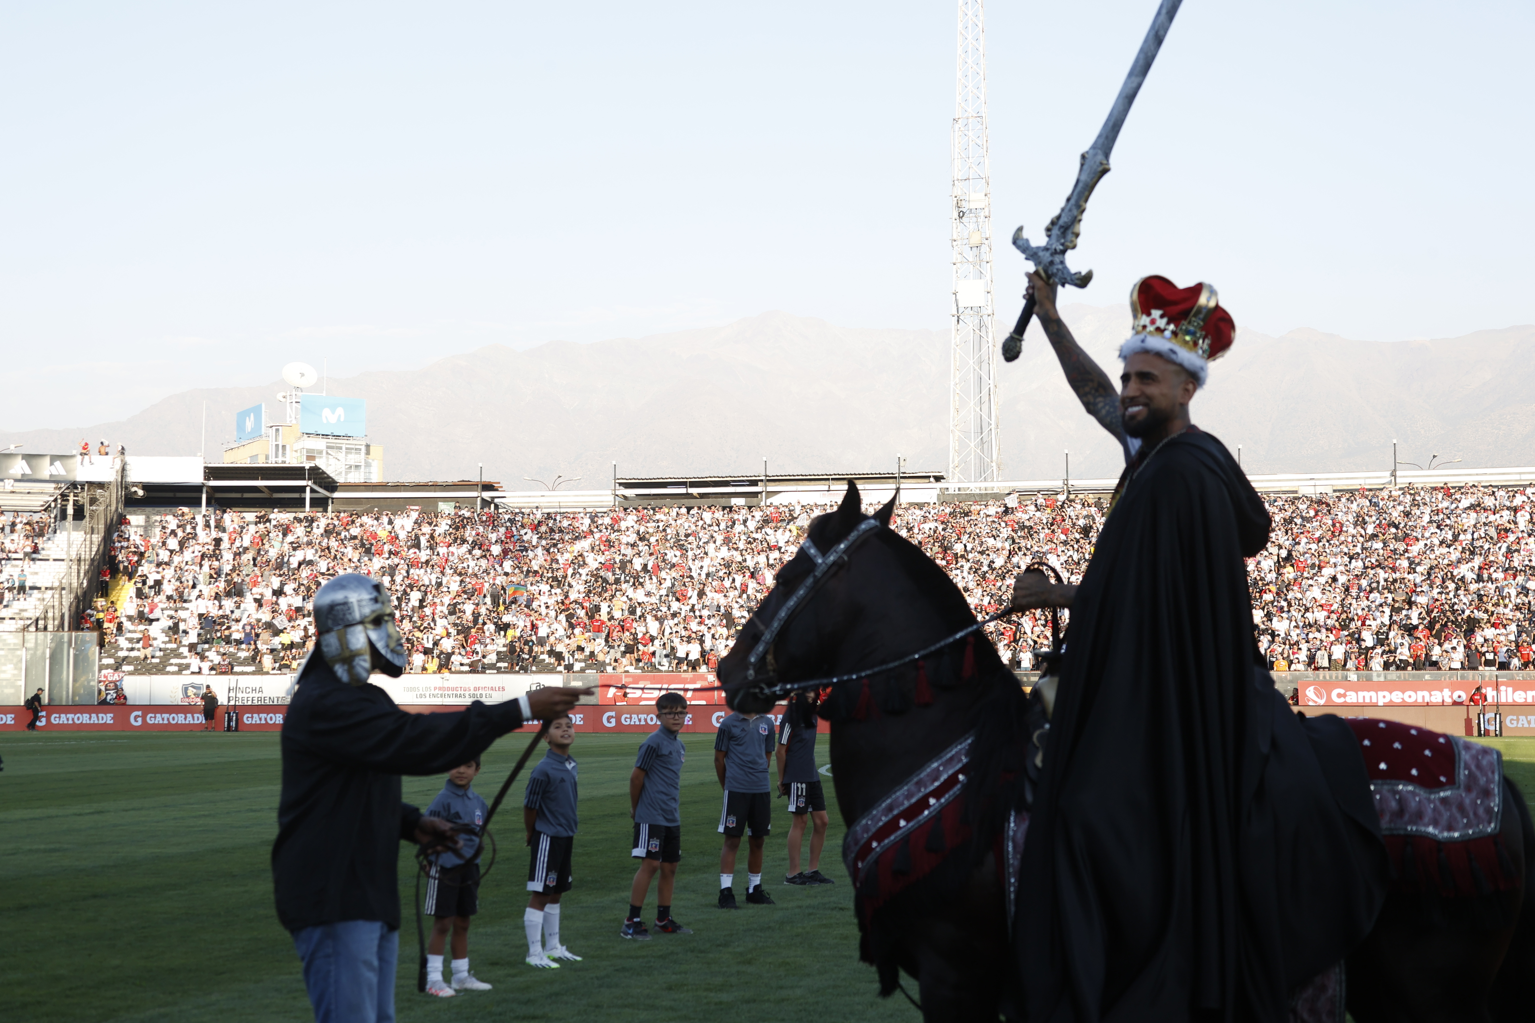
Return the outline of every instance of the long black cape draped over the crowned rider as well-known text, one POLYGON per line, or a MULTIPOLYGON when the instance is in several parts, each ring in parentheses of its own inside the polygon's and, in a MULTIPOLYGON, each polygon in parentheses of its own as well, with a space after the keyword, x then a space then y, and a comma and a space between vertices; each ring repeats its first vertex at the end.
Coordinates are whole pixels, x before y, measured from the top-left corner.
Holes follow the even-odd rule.
POLYGON ((1276 1020, 1386 894, 1363 758, 1259 660, 1269 517, 1226 448, 1167 442, 1071 604, 1019 885, 1030 1023, 1276 1020))

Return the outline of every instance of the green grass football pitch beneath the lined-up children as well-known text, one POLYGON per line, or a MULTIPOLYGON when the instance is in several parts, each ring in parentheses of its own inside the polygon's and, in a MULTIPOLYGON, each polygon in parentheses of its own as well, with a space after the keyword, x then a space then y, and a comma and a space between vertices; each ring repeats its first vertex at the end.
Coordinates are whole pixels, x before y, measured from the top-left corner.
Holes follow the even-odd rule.
MULTIPOLYGON (((418 995, 408 917, 413 862, 401 857, 407 925, 401 933, 401 1020, 910 1020, 900 997, 875 997, 857 962, 852 891, 835 853, 832 888, 769 883, 777 906, 721 913, 718 784, 709 736, 689 736, 683 788, 683 863, 674 916, 689 936, 619 939, 634 874, 628 859, 626 784, 643 736, 580 736, 582 833, 576 890, 562 937, 582 963, 534 971, 522 963, 527 853, 519 804, 497 831, 502 862, 482 888, 470 940, 474 972, 494 991, 436 1000, 418 995)), ((490 799, 523 738, 497 744, 479 788, 490 799)), ((1535 793, 1535 739, 1495 742, 1509 773, 1535 793)), ((0 989, 8 1021, 305 1020, 298 959, 272 911, 267 854, 278 798, 278 736, 8 733, 0 739, 0 989)), ((824 747, 821 750, 824 762, 824 747)), ((405 779, 425 805, 441 779, 405 779)), ((520 794, 520 784, 517 787, 520 794)), ((830 787, 827 785, 827 796, 830 787)), ((784 871, 787 814, 775 804, 764 877, 784 871)), ((832 813, 829 850, 841 842, 832 813)), ((737 870, 744 882, 744 854, 737 870)), ((652 897, 646 903, 654 914, 652 897)))

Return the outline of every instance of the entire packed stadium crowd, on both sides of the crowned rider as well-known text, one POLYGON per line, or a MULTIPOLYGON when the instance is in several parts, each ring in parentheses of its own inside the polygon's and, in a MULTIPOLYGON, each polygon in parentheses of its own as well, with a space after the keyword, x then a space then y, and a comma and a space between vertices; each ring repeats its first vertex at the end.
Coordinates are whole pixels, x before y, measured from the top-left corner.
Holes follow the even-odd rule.
MULTIPOLYGON (((1529 664, 1524 491, 1266 502, 1273 541, 1249 583, 1276 670, 1529 664)), ((1078 581, 1105 508, 1102 495, 1013 495, 903 505, 892 525, 984 615, 1036 561, 1078 581)), ((292 670, 313 646, 319 583, 367 572, 394 595, 411 672, 712 670, 826 509, 180 511, 118 531, 114 572, 130 584, 98 624, 118 670, 292 670)), ((1021 670, 1050 644, 1045 612, 989 629, 1021 670)))

